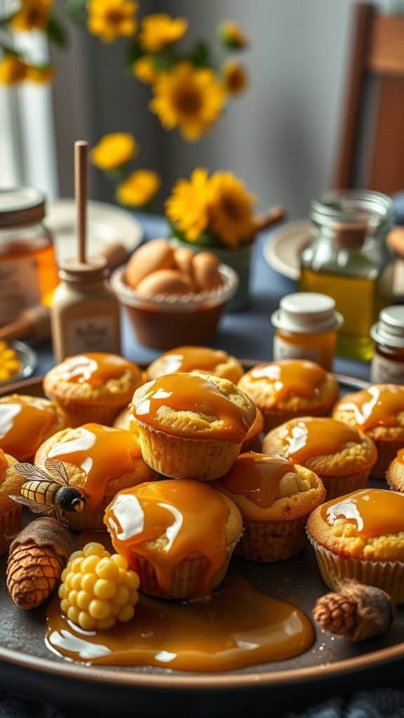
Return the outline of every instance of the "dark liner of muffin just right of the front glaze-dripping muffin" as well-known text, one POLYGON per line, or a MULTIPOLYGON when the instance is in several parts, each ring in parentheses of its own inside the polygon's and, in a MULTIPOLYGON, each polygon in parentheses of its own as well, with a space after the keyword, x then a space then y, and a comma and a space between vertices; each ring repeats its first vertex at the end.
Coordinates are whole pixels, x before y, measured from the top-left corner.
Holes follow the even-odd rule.
POLYGON ((235 554, 249 561, 282 561, 302 551, 307 543, 307 516, 295 521, 244 521, 244 533, 235 554))

